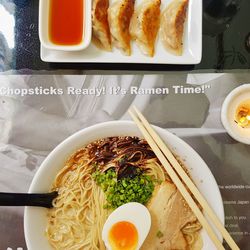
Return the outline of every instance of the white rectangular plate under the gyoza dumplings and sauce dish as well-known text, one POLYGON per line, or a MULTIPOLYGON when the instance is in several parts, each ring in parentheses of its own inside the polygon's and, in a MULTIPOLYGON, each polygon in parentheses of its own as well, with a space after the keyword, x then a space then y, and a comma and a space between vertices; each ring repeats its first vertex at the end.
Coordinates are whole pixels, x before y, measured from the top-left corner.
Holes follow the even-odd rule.
MULTIPOLYGON (((87 0, 89 1, 89 0, 87 0)), ((112 0, 114 1, 114 0, 112 0)), ((111 1, 111 2, 112 2, 111 1)), ((173 0, 162 0, 162 10, 173 0)), ((136 5, 143 2, 137 0, 136 5)), ((182 56, 170 54, 163 47, 159 37, 155 46, 154 57, 141 53, 135 42, 132 44, 132 55, 125 56, 118 49, 105 52, 91 44, 82 51, 56 51, 41 45, 41 59, 45 62, 70 63, 147 63, 147 64, 198 64, 202 53, 202 1, 189 0, 187 21, 184 33, 184 51, 182 56)))

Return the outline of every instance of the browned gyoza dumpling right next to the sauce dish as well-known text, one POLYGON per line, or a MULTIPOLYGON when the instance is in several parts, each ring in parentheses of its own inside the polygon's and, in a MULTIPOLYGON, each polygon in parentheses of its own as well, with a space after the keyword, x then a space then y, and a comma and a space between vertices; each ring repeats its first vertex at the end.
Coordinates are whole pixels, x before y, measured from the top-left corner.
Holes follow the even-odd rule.
POLYGON ((93 41, 97 47, 111 51, 108 23, 109 0, 94 0, 92 8, 93 41))

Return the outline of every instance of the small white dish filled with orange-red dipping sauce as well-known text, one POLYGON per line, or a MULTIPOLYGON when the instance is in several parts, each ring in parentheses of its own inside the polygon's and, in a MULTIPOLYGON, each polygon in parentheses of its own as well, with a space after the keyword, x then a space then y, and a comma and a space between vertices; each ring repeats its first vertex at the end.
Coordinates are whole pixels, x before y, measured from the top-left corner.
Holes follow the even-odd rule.
POLYGON ((91 42, 91 1, 40 0, 39 38, 52 50, 78 51, 91 42))

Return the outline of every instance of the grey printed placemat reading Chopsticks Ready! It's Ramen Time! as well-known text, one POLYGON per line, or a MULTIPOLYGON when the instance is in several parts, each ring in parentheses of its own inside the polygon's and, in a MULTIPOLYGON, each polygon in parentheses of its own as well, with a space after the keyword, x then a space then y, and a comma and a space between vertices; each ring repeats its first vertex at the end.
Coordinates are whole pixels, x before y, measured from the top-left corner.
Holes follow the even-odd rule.
MULTIPOLYGON (((216 196, 219 188, 226 229, 240 249, 249 249, 250 148, 233 139, 221 122, 226 96, 249 81, 249 73, 3 74, 0 190, 27 193, 41 164, 58 144, 95 124, 131 120, 128 109, 136 106, 151 124, 178 136, 201 156, 217 183, 206 187, 207 192, 216 196)), ((197 171, 199 175, 203 169, 197 171)), ((0 210, 0 248, 27 249, 24 208, 1 206, 0 210)))

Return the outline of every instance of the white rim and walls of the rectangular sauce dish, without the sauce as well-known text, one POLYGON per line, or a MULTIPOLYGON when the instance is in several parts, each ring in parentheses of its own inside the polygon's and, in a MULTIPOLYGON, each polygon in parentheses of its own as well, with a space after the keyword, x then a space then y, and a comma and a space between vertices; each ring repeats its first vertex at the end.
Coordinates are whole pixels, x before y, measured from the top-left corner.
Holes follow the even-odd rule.
POLYGON ((77 45, 57 45, 49 39, 49 7, 51 0, 40 0, 39 3, 39 38, 41 44, 51 50, 76 51, 87 48, 91 42, 92 21, 91 21, 91 2, 84 1, 84 30, 82 42, 77 45))

